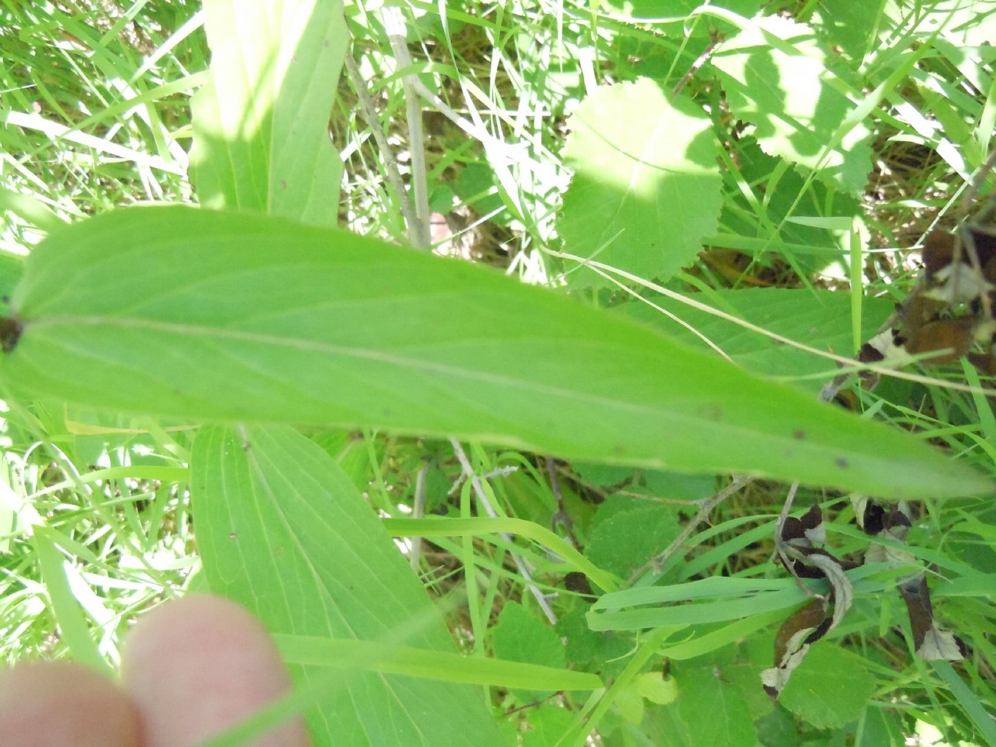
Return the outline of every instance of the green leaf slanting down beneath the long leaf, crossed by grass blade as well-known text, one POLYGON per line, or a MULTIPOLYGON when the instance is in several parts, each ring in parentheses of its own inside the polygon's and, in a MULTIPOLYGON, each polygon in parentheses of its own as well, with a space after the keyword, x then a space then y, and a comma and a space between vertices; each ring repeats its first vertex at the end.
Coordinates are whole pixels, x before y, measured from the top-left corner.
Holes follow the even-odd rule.
MULTIPOLYGON (((455 652, 371 508, 321 446, 287 426, 203 428, 190 459, 211 589, 276 633, 455 652)), ((299 683, 323 667, 296 666, 299 683)), ((357 670, 309 718, 317 745, 499 745, 469 685, 357 670)))

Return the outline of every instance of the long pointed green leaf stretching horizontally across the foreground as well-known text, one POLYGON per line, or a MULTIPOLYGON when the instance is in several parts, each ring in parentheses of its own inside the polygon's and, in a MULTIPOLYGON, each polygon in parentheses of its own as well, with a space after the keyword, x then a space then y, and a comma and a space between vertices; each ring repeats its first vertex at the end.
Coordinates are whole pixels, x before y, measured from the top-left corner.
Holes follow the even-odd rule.
POLYGON ((60 231, 15 290, 10 394, 198 420, 368 425, 879 496, 984 492, 915 438, 501 274, 189 207, 60 231))

